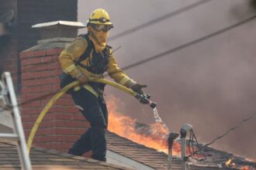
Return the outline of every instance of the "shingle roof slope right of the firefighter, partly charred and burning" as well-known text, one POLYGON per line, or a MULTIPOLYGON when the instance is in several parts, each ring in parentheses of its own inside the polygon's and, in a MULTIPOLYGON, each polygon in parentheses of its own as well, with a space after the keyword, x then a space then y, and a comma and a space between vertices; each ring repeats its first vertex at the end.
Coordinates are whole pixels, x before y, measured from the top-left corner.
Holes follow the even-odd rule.
MULTIPOLYGON (((122 138, 112 132, 107 133, 108 150, 116 152, 119 155, 126 156, 144 165, 150 166, 154 169, 167 169, 168 167, 168 155, 164 152, 157 151, 153 148, 147 148, 144 145, 139 145, 129 139, 122 138)), ((189 162, 189 165, 193 169, 236 169, 226 167, 224 164, 229 158, 232 158, 237 166, 237 169, 245 165, 250 165, 251 169, 256 169, 256 162, 248 162, 246 159, 234 156, 224 151, 218 151, 213 148, 206 148, 203 151, 204 155, 207 155, 207 159, 204 161, 189 162)), ((181 162, 174 160, 172 168, 181 169, 181 162)))

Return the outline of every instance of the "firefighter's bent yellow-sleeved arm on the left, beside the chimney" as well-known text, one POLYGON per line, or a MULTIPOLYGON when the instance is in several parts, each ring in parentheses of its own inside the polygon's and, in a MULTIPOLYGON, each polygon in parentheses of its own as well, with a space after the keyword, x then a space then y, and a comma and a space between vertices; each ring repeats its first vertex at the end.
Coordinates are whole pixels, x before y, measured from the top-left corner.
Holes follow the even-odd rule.
POLYGON ((77 66, 75 66, 74 63, 83 53, 85 53, 87 46, 88 42, 86 39, 78 37, 77 39, 74 39, 74 41, 71 42, 71 44, 69 44, 59 56, 62 70, 65 73, 71 74, 72 77, 76 78, 81 83, 85 83, 86 76, 77 66))

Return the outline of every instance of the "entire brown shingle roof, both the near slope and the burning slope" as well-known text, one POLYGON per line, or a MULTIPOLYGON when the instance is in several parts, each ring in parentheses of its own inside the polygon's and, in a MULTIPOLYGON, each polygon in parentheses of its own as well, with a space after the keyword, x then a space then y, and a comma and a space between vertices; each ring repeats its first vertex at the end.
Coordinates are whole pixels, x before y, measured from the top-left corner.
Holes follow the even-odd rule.
MULTIPOLYGON (((130 158, 140 164, 147 165, 154 169, 167 169, 167 157, 164 152, 159 152, 153 148, 137 144, 126 138, 120 137, 111 132, 107 133, 108 150, 130 158)), ((208 169, 241 169, 245 165, 250 166, 250 170, 256 169, 256 162, 248 162, 224 151, 213 148, 206 148, 203 152, 207 159, 199 162, 189 162, 190 167, 195 170, 208 169), (224 163, 228 158, 232 158, 237 168, 225 167, 224 163)), ((118 165, 111 165, 105 162, 95 161, 74 155, 68 155, 61 151, 47 148, 33 147, 30 152, 33 169, 130 169, 118 165)), ((0 169, 20 169, 19 157, 15 145, 0 143, 0 169)), ((174 160, 172 169, 181 169, 181 162, 174 160)))

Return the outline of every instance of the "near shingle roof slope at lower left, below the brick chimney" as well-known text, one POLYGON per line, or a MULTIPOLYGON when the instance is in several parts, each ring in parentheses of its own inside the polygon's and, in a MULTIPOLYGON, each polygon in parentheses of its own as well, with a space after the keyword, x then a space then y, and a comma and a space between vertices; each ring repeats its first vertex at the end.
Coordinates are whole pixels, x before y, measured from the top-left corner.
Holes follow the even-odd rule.
MULTIPOLYGON (((33 147, 30 153, 33 169, 130 169, 90 158, 69 155, 61 151, 33 147)), ((19 155, 15 145, 0 143, 0 169, 20 169, 19 155)))

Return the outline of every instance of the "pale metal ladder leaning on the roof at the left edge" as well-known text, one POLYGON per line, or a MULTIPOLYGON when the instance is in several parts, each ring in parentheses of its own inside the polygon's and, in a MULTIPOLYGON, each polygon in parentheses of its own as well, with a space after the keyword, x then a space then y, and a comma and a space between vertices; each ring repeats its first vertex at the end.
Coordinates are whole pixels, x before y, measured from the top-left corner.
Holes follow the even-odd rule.
POLYGON ((31 170, 31 162, 26 152, 26 140, 22 128, 16 93, 9 72, 2 73, 0 80, 0 124, 12 128, 13 133, 1 133, 0 141, 11 141, 17 145, 19 161, 23 170, 31 170), (8 109, 5 109, 7 107, 8 109))

